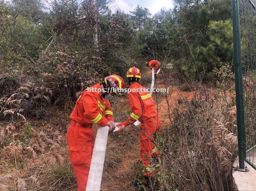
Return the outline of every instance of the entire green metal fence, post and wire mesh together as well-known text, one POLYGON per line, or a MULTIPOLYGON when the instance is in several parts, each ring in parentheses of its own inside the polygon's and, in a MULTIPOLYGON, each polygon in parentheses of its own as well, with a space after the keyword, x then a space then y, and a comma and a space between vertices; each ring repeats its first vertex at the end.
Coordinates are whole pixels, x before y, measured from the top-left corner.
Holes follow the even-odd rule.
POLYGON ((256 169, 256 0, 232 0, 239 168, 256 169))

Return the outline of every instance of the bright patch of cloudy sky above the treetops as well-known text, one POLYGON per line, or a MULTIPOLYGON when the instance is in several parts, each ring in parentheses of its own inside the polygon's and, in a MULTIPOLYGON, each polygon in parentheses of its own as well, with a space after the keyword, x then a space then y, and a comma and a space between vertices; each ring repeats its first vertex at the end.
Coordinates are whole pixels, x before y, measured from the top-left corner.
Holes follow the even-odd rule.
POLYGON ((113 12, 120 8, 120 10, 125 13, 129 13, 129 11, 133 11, 137 5, 148 8, 152 15, 159 12, 162 7, 166 9, 173 7, 172 0, 115 0, 109 5, 109 8, 111 8, 113 12))

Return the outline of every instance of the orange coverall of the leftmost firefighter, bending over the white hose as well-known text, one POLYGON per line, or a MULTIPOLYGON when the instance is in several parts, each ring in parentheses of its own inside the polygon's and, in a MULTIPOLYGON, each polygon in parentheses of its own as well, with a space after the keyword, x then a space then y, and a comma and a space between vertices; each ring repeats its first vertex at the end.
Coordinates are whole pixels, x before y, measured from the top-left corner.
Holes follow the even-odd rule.
MULTIPOLYGON (((91 88, 98 89, 100 84, 91 88)), ((109 101, 102 97, 102 93, 87 92, 86 89, 76 101, 70 119, 67 131, 69 156, 77 180, 77 190, 84 191, 95 141, 91 126, 93 123, 106 126, 108 121, 114 121, 113 113, 109 101)))

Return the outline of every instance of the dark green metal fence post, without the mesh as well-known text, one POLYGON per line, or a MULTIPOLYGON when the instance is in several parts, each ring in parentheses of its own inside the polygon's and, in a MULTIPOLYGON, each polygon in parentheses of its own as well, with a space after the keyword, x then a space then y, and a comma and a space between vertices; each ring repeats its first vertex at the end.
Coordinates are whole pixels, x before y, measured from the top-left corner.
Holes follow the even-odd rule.
MULTIPOLYGON (((246 158, 245 146, 245 123, 243 104, 243 75, 241 62, 241 36, 238 0, 232 0, 232 20, 233 20, 233 45, 234 45, 234 71, 236 83, 236 105, 237 105, 237 132, 238 132, 238 157, 239 168, 236 170, 245 171, 244 159, 246 158)), ((247 171, 246 171, 247 172, 247 171)))

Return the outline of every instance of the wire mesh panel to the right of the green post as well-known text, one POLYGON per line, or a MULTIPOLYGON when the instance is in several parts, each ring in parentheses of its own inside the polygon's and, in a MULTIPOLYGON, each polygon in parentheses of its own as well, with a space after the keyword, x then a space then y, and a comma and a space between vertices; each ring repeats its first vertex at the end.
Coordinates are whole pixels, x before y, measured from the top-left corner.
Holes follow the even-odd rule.
POLYGON ((238 49, 234 51, 240 54, 238 56, 238 62, 241 65, 239 72, 242 73, 239 76, 242 82, 239 93, 242 95, 243 103, 240 104, 241 111, 238 111, 243 115, 241 145, 245 145, 243 159, 256 169, 256 0, 238 0, 236 3, 240 42, 237 47, 234 46, 238 49))

